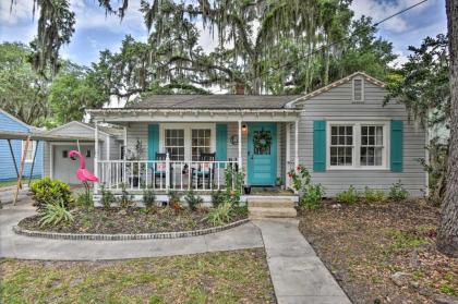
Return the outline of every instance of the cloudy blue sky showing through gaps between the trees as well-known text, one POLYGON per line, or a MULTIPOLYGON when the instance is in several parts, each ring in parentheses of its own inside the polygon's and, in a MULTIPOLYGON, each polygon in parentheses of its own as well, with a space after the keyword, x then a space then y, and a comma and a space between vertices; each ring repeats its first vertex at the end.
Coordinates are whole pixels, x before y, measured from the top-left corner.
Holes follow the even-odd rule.
MULTIPOLYGON (((372 16, 382 20, 419 0, 353 0, 355 16, 372 16)), ((76 31, 62 56, 80 64, 89 64, 98 59, 99 51, 108 48, 117 51, 128 34, 146 40, 147 31, 137 11, 140 0, 131 0, 122 22, 116 16, 106 16, 96 0, 71 0, 76 13, 76 31)), ((36 35, 36 17, 32 15, 33 0, 16 0, 10 14, 10 0, 0 0, 0 41, 28 42, 36 35)), ((409 45, 419 45, 426 36, 446 32, 445 0, 429 0, 420 7, 381 25, 378 34, 391 41, 396 53, 403 62, 409 45)), ((203 33, 201 45, 210 50, 216 42, 208 33, 203 33)))

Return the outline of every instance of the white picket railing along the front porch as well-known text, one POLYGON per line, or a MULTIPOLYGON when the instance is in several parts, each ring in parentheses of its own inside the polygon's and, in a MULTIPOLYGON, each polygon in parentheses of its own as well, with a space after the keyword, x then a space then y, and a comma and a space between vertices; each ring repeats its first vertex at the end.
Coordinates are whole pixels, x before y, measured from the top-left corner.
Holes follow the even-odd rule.
MULTIPOLYGON (((225 169, 237 160, 99 160, 99 184, 106 190, 217 191, 226 189, 225 169)), ((236 172, 236 170, 233 170, 236 172)), ((234 174, 234 173, 233 173, 234 174)), ((233 181, 234 179, 232 179, 233 181)), ((232 185, 233 187, 234 185, 232 185)))

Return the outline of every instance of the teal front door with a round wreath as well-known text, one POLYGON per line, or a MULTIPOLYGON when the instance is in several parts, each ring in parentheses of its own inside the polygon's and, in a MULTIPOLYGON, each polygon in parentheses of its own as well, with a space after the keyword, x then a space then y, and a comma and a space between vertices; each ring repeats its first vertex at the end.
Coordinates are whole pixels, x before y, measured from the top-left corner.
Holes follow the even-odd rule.
POLYGON ((249 123, 248 183, 275 185, 277 177, 277 124, 275 122, 249 123))

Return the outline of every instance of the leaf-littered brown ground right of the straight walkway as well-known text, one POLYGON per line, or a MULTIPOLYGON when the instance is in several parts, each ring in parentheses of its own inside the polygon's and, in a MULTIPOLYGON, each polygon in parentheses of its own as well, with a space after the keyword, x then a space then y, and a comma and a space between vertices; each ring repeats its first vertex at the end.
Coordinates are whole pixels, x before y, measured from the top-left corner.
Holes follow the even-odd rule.
POLYGON ((301 212, 300 230, 353 303, 448 303, 458 259, 435 248, 438 218, 421 200, 326 202, 301 212))

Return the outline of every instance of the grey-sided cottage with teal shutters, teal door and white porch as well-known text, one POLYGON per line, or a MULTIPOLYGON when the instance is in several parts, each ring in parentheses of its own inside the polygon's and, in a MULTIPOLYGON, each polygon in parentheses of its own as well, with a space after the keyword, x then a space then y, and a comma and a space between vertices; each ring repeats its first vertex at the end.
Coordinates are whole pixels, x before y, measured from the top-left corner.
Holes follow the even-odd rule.
POLYGON ((134 194, 145 186, 206 194, 224 187, 227 166, 243 168, 248 185, 281 180, 288 187, 288 172, 304 165, 326 196, 350 185, 388 191, 398 181, 422 196, 427 174, 419 159, 426 155, 426 131, 409 124, 403 105, 383 105, 384 87, 354 73, 308 95, 165 95, 89 110, 96 125, 124 129, 128 150, 138 141, 146 147, 134 161, 97 154, 95 172, 114 194, 122 184, 134 194))

